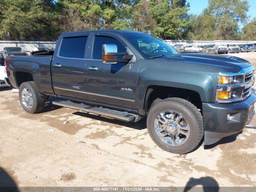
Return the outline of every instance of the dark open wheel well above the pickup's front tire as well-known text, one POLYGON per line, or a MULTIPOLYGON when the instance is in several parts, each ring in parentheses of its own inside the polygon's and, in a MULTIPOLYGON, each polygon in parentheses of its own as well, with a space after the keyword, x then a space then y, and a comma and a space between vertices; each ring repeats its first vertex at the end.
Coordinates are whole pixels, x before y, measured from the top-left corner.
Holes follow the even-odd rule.
POLYGON ((154 101, 158 102, 158 100, 163 100, 170 97, 177 97, 188 100, 202 112, 202 101, 198 92, 188 89, 166 86, 148 87, 144 100, 144 110, 148 112, 154 101))

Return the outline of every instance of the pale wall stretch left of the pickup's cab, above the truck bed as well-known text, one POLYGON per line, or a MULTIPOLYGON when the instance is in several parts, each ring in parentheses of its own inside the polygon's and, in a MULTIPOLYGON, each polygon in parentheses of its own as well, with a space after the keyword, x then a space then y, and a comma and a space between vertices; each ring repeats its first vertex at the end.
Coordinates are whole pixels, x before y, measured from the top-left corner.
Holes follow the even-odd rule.
POLYGON ((32 52, 37 49, 55 49, 55 41, 0 41, 0 51, 4 47, 21 47, 26 52, 32 52))

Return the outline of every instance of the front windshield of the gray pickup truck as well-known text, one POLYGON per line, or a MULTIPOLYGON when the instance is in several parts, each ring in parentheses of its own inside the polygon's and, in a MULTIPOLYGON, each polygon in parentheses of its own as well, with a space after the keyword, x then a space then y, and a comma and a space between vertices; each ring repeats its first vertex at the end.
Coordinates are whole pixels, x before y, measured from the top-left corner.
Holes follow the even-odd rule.
POLYGON ((147 34, 125 34, 132 44, 145 56, 180 54, 166 42, 147 34))

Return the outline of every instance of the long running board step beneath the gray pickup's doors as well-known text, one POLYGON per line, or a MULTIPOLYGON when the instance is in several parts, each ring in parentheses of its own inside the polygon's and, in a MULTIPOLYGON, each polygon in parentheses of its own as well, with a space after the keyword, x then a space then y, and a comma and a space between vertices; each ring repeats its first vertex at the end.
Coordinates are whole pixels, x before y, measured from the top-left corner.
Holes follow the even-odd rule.
POLYGON ((128 112, 121 112, 121 111, 111 110, 111 109, 102 108, 102 107, 91 107, 85 104, 74 103, 72 101, 57 100, 57 101, 53 101, 52 104, 62 106, 62 107, 72 108, 76 110, 81 110, 88 113, 103 115, 103 116, 107 116, 107 117, 111 117, 111 118, 119 119, 123 121, 132 121, 134 119, 137 119, 136 118, 137 115, 130 114, 128 112))

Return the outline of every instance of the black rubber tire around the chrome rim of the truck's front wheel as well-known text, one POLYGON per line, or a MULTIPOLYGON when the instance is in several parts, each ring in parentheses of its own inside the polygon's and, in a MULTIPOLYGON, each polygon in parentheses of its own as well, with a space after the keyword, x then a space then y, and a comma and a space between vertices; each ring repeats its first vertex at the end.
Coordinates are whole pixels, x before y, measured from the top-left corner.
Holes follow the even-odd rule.
POLYGON ((185 154, 194 150, 204 135, 202 114, 196 106, 181 98, 168 98, 152 106, 148 113, 147 127, 150 137, 162 150, 175 154, 185 154), (162 141, 156 134, 155 119, 160 112, 165 110, 173 110, 180 113, 188 122, 190 134, 186 142, 181 145, 171 146, 162 141))

